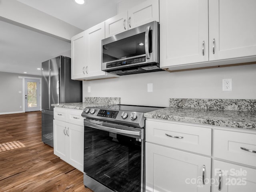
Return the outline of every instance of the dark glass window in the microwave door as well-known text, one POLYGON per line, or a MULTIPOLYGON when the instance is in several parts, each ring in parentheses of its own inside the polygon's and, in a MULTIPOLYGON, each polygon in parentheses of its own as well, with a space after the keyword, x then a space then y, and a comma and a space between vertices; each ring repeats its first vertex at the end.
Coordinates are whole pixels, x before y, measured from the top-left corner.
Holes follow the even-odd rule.
POLYGON ((102 46, 102 62, 114 61, 138 55, 145 52, 145 32, 102 46))

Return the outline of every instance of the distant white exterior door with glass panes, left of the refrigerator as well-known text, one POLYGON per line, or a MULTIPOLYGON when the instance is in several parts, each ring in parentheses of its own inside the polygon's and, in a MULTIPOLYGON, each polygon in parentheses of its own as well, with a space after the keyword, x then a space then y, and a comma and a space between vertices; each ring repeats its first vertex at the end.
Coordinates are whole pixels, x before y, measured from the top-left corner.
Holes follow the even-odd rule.
POLYGON ((25 79, 25 111, 40 111, 39 79, 25 79))

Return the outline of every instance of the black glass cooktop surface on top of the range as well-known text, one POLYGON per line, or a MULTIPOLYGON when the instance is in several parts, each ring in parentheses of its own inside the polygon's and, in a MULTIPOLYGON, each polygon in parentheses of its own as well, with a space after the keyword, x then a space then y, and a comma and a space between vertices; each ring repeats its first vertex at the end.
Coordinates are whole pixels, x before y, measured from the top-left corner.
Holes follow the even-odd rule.
POLYGON ((104 106, 98 106, 93 108, 147 113, 150 111, 162 109, 164 107, 150 107, 150 106, 140 106, 140 105, 104 105, 104 106))

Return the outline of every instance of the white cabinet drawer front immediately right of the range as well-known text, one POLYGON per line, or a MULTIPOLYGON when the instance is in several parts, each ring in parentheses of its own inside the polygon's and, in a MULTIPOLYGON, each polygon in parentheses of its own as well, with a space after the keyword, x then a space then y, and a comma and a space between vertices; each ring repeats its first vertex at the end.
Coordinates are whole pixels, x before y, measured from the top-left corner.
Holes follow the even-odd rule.
POLYGON ((212 129, 146 121, 146 141, 205 155, 212 153, 212 129))

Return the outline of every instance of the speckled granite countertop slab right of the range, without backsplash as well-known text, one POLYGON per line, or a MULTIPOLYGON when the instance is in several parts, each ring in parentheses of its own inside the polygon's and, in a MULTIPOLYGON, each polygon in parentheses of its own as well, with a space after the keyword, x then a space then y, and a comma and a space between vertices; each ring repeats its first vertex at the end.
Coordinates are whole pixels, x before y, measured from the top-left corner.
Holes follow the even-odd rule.
POLYGON ((144 113, 144 117, 256 130, 256 111, 166 107, 144 113))

